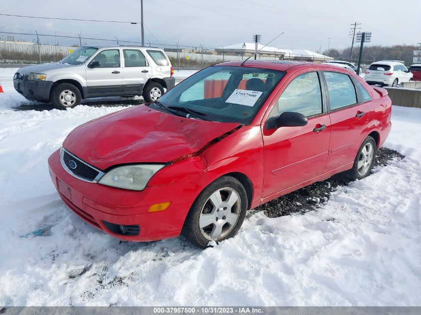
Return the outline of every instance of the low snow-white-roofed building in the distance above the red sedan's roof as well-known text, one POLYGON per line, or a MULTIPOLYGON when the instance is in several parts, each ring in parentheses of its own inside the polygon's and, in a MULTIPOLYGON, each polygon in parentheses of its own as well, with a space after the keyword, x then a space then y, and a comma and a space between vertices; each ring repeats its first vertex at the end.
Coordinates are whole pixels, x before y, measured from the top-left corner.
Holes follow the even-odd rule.
MULTIPOLYGON (((279 60, 302 60, 320 63, 323 61, 333 60, 334 58, 325 56, 307 49, 281 49, 277 47, 258 44, 257 49, 261 49, 257 55, 257 59, 264 57, 265 59, 273 58, 279 60)), ((255 43, 239 43, 224 47, 215 48, 218 55, 226 56, 244 56, 249 57, 255 53, 255 43)))

